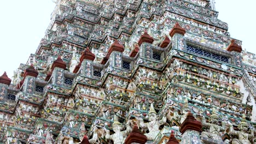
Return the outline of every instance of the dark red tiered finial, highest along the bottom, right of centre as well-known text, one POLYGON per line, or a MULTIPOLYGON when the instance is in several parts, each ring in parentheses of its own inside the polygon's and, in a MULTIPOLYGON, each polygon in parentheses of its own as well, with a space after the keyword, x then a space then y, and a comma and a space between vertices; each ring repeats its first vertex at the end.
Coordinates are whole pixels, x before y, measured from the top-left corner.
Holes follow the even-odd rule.
POLYGON ((195 131, 201 131, 202 123, 197 121, 191 112, 188 113, 187 118, 179 126, 179 131, 183 134, 186 130, 191 129, 195 131))

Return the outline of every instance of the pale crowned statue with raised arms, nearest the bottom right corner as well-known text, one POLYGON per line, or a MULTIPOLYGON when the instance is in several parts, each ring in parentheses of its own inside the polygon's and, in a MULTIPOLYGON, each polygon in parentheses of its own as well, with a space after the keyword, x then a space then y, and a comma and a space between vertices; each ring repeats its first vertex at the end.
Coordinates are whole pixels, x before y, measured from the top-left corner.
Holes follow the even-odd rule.
POLYGON ((251 134, 247 133, 248 132, 248 124, 245 119, 245 114, 243 114, 243 119, 240 124, 238 124, 238 130, 234 130, 232 127, 232 124, 229 123, 229 129, 230 129, 230 134, 235 135, 238 137, 238 139, 233 139, 232 144, 251 144, 251 141, 254 138, 254 131, 251 130, 251 134))

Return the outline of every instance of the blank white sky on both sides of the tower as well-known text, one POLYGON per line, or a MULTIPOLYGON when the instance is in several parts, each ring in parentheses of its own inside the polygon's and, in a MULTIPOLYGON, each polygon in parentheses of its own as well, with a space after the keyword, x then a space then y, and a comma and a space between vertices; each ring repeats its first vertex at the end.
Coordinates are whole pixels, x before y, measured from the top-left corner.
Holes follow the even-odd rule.
MULTIPOLYGON (((256 53, 255 0, 216 0, 218 19, 229 24, 232 38, 242 40, 243 50, 256 53)), ((11 0, 0 4, 0 75, 13 76, 26 63, 44 37, 55 7, 51 0, 11 0)))

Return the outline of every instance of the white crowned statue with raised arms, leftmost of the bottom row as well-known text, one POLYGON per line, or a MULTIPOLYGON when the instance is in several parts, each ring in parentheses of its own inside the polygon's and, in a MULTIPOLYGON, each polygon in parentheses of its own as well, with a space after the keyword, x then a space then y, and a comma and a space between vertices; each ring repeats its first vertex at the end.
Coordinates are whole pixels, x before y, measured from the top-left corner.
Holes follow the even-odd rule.
POLYGON ((121 131, 121 123, 118 121, 118 116, 114 116, 114 123, 112 125, 112 128, 114 130, 114 134, 109 135, 109 130, 105 128, 106 131, 106 139, 113 140, 114 144, 122 144, 124 143, 124 140, 126 136, 131 132, 131 127, 129 124, 129 121, 126 123, 126 130, 121 131))

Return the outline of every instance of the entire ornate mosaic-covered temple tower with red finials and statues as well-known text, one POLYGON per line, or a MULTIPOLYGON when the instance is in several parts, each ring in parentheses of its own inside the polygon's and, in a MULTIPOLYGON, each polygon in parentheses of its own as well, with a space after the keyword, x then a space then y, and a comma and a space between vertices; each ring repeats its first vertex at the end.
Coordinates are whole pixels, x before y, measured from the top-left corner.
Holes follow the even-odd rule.
POLYGON ((0 76, 0 143, 255 143, 256 55, 210 0, 56 0, 0 76))

